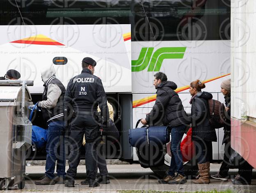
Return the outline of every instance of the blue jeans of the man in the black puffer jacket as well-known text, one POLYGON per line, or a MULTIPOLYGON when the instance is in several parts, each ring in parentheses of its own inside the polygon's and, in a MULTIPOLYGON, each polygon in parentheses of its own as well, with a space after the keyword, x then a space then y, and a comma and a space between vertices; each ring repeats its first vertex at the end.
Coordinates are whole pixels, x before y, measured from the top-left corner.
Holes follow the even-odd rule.
POLYGON ((185 128, 185 125, 171 128, 171 165, 167 175, 174 176, 174 173, 177 172, 184 176, 181 140, 185 133, 185 128))

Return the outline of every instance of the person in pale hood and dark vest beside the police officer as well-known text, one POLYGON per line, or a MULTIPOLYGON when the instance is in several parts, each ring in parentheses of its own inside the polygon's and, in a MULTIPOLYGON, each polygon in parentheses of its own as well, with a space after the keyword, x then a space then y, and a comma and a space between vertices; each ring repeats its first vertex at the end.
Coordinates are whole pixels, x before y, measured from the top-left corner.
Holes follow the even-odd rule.
POLYGON ((55 76, 53 66, 41 70, 44 82, 42 101, 37 107, 42 109, 43 120, 47 122, 47 143, 46 143, 46 173, 43 179, 36 181, 38 185, 64 184, 66 176, 65 148, 64 148, 64 115, 63 98, 65 87, 55 76), (59 149, 58 155, 57 150, 59 149), (54 175, 55 161, 57 160, 57 177, 54 175))

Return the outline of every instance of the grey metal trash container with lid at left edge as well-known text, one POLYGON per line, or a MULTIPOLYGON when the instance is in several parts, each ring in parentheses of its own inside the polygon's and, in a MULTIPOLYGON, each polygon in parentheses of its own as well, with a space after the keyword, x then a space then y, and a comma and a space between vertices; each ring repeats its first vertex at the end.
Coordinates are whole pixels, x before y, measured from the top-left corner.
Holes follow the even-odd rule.
POLYGON ((26 151, 31 146, 32 123, 27 106, 31 81, 0 80, 0 190, 25 186, 26 151))

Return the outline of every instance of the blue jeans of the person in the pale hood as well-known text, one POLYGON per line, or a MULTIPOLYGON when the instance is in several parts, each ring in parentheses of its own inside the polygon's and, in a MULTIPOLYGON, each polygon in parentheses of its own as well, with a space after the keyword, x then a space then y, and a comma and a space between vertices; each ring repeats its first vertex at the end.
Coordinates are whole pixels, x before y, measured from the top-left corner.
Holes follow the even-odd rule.
POLYGON ((64 139, 64 121, 54 121, 49 123, 47 129, 46 143, 46 173, 45 175, 53 179, 55 171, 55 162, 57 160, 57 175, 65 177, 65 139, 64 139))

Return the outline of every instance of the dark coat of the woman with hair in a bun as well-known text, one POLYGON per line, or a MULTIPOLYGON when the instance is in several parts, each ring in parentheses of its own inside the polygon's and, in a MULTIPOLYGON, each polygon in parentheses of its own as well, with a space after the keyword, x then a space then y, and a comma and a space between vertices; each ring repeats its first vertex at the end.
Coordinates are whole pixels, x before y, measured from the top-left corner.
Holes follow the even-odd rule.
POLYGON ((208 100, 213 95, 208 92, 198 92, 192 98, 192 140, 217 141, 215 129, 210 126, 208 100))

